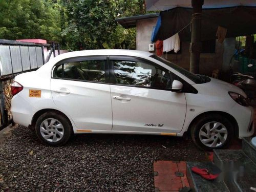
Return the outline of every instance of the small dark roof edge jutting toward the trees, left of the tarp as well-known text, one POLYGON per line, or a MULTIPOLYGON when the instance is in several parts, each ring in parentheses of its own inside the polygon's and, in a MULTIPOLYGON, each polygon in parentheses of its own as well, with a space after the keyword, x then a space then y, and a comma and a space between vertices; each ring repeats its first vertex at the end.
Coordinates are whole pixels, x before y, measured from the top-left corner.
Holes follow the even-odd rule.
POLYGON ((159 13, 146 14, 146 15, 136 15, 131 17, 117 18, 115 21, 123 26, 125 29, 136 27, 137 20, 148 19, 158 17, 159 13))

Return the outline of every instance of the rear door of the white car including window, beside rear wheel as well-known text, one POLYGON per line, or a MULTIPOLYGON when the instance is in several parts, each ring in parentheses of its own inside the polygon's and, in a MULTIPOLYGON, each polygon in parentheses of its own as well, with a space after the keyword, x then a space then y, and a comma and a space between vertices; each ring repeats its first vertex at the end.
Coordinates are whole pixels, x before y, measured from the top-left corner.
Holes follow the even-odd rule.
POLYGON ((77 129, 111 130, 112 107, 106 56, 74 57, 53 69, 53 101, 77 129))

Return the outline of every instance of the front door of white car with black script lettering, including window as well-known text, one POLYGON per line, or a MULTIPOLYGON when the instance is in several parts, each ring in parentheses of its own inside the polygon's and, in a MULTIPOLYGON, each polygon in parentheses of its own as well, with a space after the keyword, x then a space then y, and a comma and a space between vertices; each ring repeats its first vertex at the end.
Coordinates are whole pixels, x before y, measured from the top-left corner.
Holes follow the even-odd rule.
POLYGON ((110 56, 112 130, 179 133, 186 99, 184 93, 171 91, 174 78, 151 61, 110 56))

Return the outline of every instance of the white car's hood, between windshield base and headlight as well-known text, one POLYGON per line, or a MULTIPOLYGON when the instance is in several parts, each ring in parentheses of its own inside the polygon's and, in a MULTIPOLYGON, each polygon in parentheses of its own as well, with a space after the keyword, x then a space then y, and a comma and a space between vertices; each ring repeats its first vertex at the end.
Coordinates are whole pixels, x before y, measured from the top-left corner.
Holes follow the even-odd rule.
POLYGON ((240 88, 234 86, 231 83, 215 79, 215 78, 210 78, 209 82, 202 83, 202 84, 193 84, 193 86, 198 89, 198 91, 202 92, 207 92, 208 94, 211 95, 226 95, 227 92, 235 92, 243 95, 244 97, 247 97, 246 94, 244 93, 243 90, 240 88))

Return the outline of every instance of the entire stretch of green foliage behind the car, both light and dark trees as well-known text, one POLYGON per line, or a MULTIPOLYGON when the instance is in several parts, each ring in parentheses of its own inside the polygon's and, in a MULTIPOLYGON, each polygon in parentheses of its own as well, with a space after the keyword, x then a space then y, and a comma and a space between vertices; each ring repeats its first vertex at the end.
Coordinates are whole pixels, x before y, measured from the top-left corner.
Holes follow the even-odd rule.
POLYGON ((144 0, 0 0, 0 38, 41 38, 62 49, 135 49, 136 29, 115 18, 145 14, 144 0))

